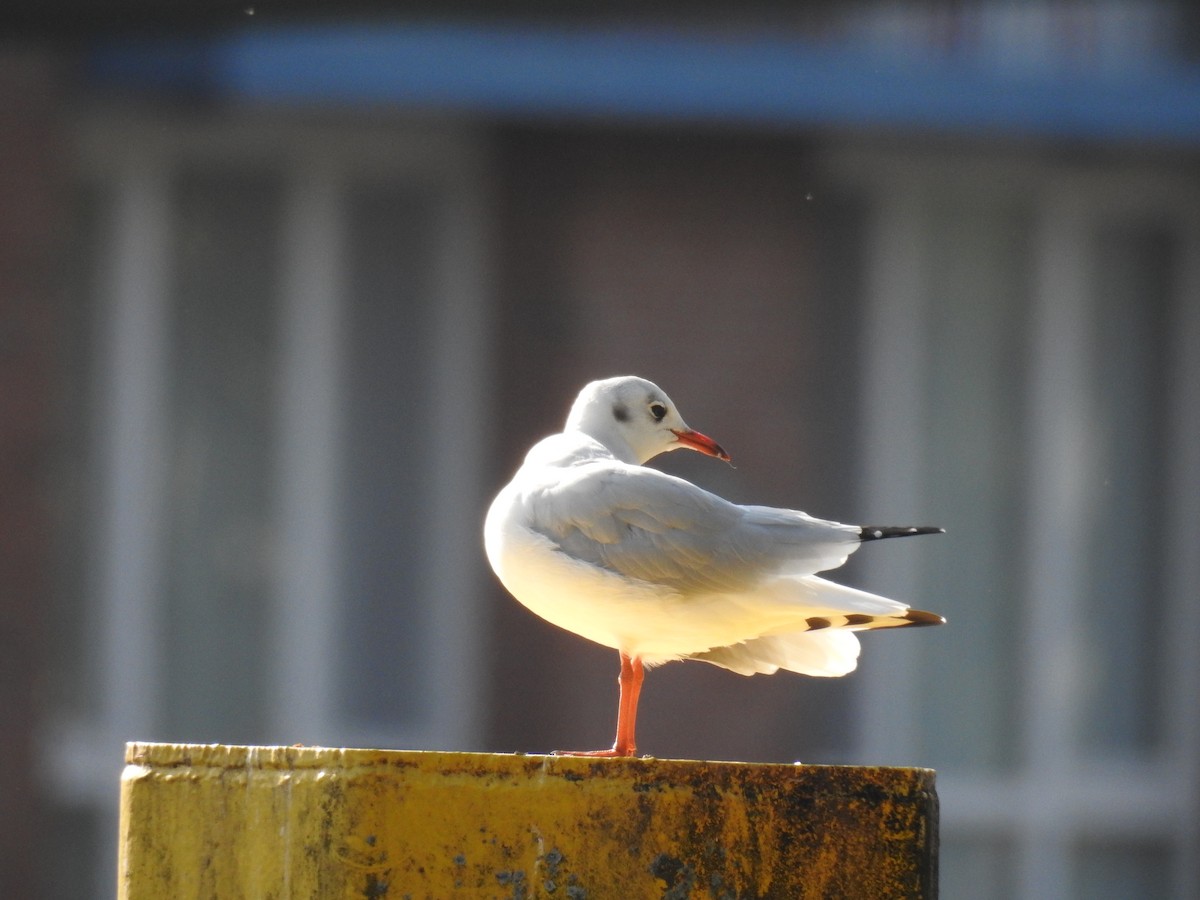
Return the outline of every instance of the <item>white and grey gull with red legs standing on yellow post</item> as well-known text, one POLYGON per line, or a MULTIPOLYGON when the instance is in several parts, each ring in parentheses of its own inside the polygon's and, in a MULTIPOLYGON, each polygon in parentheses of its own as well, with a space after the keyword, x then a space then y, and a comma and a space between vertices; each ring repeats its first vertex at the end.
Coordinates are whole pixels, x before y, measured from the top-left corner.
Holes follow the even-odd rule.
POLYGON ((658 385, 592 382, 487 511, 484 546, 509 593, 620 654, 612 748, 557 752, 634 756, 646 668, 695 659, 739 674, 844 676, 858 665, 856 631, 944 623, 816 575, 865 541, 943 529, 743 506, 643 466, 680 448, 730 461, 658 385))

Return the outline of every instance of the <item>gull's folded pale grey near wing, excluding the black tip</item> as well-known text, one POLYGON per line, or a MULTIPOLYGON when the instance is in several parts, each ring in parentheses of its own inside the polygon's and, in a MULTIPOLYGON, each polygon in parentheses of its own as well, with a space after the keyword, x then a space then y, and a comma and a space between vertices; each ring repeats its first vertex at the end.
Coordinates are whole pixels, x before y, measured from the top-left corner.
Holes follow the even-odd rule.
POLYGON ((529 526, 582 562, 682 594, 740 593, 841 565, 858 526, 739 506, 656 469, 594 461, 533 492, 529 526))

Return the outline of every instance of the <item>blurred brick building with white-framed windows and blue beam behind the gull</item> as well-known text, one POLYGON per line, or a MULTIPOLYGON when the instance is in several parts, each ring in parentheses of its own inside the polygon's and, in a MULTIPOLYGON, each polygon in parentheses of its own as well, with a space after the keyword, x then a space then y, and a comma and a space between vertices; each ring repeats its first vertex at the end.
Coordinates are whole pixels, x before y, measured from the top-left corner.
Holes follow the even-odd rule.
POLYGON ((658 670, 648 752, 936 767, 944 896, 1195 895, 1190 7, 0 24, 0 895, 110 893, 127 739, 602 744, 479 529, 624 372, 674 472, 949 530, 839 572, 949 626, 658 670))

